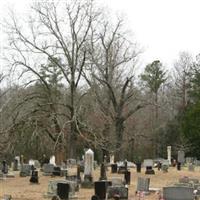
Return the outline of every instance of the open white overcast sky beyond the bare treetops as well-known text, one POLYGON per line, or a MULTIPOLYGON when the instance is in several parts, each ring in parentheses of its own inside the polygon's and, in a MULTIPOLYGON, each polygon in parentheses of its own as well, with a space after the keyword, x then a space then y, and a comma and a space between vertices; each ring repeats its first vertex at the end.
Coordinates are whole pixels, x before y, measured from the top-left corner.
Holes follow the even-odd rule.
MULTIPOLYGON (((8 5, 26 12, 31 0, 1 0, 0 15, 8 5)), ((180 51, 200 53, 200 0, 97 0, 112 14, 125 16, 135 40, 143 49, 141 63, 161 60, 170 67, 180 51)), ((1 39, 1 42, 2 39, 1 39)))

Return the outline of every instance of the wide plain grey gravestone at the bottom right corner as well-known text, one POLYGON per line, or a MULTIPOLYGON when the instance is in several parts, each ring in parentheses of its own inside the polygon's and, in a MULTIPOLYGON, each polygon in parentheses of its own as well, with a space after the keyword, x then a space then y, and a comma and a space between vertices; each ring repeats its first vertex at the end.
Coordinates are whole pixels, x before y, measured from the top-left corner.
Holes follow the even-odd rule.
POLYGON ((193 188, 179 186, 164 187, 163 198, 165 200, 193 200, 193 188))

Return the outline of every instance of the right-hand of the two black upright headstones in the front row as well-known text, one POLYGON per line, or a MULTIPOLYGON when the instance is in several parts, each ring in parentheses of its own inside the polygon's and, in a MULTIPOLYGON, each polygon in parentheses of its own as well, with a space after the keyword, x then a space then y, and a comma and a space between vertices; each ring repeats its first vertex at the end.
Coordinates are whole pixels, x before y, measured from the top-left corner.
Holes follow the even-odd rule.
POLYGON ((94 182, 94 191, 95 195, 99 197, 99 199, 106 199, 106 191, 108 186, 111 186, 111 181, 96 181, 94 182))

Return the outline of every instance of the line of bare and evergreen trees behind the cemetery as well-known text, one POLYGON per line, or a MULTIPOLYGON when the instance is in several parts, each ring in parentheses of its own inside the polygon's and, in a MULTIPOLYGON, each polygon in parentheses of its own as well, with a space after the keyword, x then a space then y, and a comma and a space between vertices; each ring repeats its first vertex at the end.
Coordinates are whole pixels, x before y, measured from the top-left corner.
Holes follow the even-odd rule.
POLYGON ((140 51, 124 21, 92 0, 35 3, 5 27, 1 156, 55 154, 60 163, 91 147, 99 160, 133 160, 172 145, 174 156, 200 157, 198 56, 182 52, 171 71, 155 60, 136 76, 140 51))

